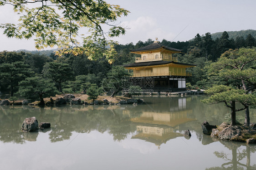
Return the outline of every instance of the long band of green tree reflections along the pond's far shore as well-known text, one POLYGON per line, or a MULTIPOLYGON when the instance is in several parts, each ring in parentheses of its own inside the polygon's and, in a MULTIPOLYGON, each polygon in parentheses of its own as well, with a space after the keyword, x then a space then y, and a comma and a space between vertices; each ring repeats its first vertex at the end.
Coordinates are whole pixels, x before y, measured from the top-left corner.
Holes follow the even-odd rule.
MULTIPOLYGON (((91 131, 99 131, 103 133, 108 131, 109 134, 113 135, 114 140, 120 141, 125 139, 128 134, 136 131, 135 124, 130 121, 131 118, 141 117, 141 115, 147 111, 156 113, 165 112, 166 114, 176 112, 177 115, 181 116, 179 111, 182 112, 186 109, 193 110, 193 112, 186 114, 184 117, 198 119, 198 121, 183 122, 177 126, 177 130, 193 130, 199 140, 201 140, 201 123, 205 120, 205 115, 210 117, 212 112, 210 112, 208 105, 203 106, 203 103, 199 102, 201 97, 197 97, 196 100, 192 97, 195 98, 196 96, 185 98, 153 97, 151 103, 150 100, 146 98, 145 100, 149 101, 150 104, 138 105, 136 107, 133 105, 72 105, 42 108, 23 105, 0 107, 0 141, 14 141, 17 143, 22 142, 22 140, 24 141, 22 133, 17 131, 20 131, 22 122, 26 117, 33 116, 37 118, 39 123, 41 121, 51 123, 51 132, 49 133, 52 135, 49 136, 51 141, 69 139, 73 131, 77 133, 90 133, 91 131), (186 102, 183 99, 186 99, 186 102), (180 103, 181 101, 182 105, 180 103), (202 110, 204 111, 202 112, 202 110)), ((217 113, 215 114, 215 111, 213 113, 215 115, 214 117, 220 115, 217 115, 217 113)))

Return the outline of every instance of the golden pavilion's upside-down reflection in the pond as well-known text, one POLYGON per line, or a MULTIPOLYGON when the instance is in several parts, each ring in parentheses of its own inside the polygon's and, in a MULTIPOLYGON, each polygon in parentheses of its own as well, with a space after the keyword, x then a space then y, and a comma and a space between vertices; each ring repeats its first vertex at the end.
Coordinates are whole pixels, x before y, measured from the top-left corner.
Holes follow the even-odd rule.
MULTIPOLYGON (((131 117, 130 121, 136 124, 137 133, 132 139, 141 139, 160 146, 170 139, 183 136, 181 133, 175 132, 179 130, 179 125, 194 119, 189 118, 192 109, 186 109, 186 98, 175 97, 172 99, 175 105, 170 104, 164 112, 158 112, 157 108, 145 109, 138 117, 131 117), (169 111, 167 111, 167 109, 169 111)), ((165 106, 166 107, 166 106, 165 106)), ((125 110, 123 114, 130 115, 130 110, 125 110)))

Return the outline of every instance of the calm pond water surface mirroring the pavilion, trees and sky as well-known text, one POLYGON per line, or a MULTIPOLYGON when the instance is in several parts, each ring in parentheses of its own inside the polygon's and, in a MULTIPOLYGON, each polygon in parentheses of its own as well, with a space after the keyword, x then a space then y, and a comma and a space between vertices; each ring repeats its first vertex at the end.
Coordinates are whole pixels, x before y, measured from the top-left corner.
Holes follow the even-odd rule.
MULTIPOLYGON (((255 170, 256 145, 203 135, 203 121, 220 125, 229 112, 201 103, 204 97, 143 97, 147 104, 138 106, 0 107, 0 169, 255 170), (26 117, 51 128, 21 132, 26 117), (190 139, 182 135, 187 129, 190 139)), ((256 122, 256 110, 250 114, 256 122)))

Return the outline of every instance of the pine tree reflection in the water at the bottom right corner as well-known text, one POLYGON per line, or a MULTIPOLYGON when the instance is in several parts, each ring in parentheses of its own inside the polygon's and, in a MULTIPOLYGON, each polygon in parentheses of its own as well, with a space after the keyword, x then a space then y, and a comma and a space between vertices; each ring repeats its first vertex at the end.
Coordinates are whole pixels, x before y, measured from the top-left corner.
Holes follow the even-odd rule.
POLYGON ((256 170, 256 165, 251 165, 251 153, 256 151, 256 146, 232 141, 220 141, 220 143, 227 147, 232 152, 232 155, 215 151, 214 154, 218 158, 227 162, 220 167, 211 167, 206 170, 256 170), (245 164, 241 163, 243 159, 246 159, 245 164))

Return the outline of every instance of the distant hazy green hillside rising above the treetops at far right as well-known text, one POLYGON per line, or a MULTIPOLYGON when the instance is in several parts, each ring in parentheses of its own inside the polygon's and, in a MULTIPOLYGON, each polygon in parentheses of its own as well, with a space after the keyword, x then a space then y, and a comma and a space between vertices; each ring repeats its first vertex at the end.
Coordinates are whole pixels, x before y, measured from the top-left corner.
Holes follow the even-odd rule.
MULTIPOLYGON (((214 33, 211 34, 212 39, 216 39, 216 38, 220 38, 223 32, 218 32, 218 33, 214 33)), ((229 34, 229 38, 230 39, 236 39, 237 36, 239 37, 244 37, 244 39, 246 39, 248 34, 251 34, 252 37, 254 37, 256 39, 256 30, 253 29, 247 29, 247 30, 241 30, 241 31, 227 31, 227 33, 229 34)))

